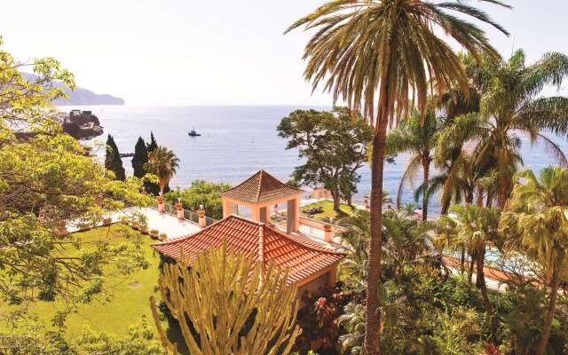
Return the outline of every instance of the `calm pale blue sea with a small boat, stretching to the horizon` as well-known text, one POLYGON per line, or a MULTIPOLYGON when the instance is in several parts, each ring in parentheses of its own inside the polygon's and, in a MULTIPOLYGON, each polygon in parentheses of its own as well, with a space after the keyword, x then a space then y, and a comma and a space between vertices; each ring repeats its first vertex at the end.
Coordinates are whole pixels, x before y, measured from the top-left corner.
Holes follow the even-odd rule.
MULTIPOLYGON (((266 170, 282 181, 288 180, 294 167, 301 164, 295 150, 286 150, 286 140, 278 137, 276 127, 280 120, 296 109, 326 106, 62 106, 62 111, 73 108, 91 110, 99 117, 105 135, 114 136, 121 153, 134 152, 138 137, 147 141, 154 132, 159 145, 168 146, 180 160, 177 175, 170 185, 186 186, 195 179, 215 182, 240 183, 257 170, 266 170), (188 137, 194 128, 201 137, 188 137)), ((565 138, 548 136, 568 154, 565 138)), ((100 153, 102 154, 102 153, 100 153)), ((544 147, 531 146, 524 140, 522 149, 525 166, 540 170, 554 162, 544 147)), ((399 155, 394 164, 385 165, 384 189, 394 199, 398 182, 406 167, 407 156, 399 155)), ((131 158, 122 162, 131 174, 131 158)), ((359 192, 355 201, 362 201, 370 191, 370 170, 360 171, 359 192)), ((416 177, 414 186, 420 184, 416 177)), ((430 210, 439 210, 438 199, 432 199, 430 210)), ((405 202, 413 202, 413 186, 406 186, 405 202)))

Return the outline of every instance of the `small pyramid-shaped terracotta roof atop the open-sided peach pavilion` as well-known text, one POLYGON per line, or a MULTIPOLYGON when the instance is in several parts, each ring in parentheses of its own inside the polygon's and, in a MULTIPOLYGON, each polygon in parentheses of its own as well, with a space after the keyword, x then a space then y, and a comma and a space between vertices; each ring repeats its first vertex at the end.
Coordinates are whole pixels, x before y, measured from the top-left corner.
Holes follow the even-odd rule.
POLYGON ((304 190, 286 185, 264 170, 248 177, 241 184, 221 193, 222 196, 253 204, 269 203, 303 193, 304 190))

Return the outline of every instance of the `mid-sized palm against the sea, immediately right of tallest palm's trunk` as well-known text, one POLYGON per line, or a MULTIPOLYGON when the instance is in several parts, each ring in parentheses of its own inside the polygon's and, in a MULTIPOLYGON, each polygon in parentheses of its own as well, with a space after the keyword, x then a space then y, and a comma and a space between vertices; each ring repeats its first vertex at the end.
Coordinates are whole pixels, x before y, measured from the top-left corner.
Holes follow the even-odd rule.
POLYGON ((397 209, 400 208, 404 185, 412 181, 416 170, 422 167, 422 221, 428 219, 430 163, 433 159, 431 152, 436 146, 441 126, 442 122, 431 110, 426 112, 422 124, 421 116, 416 112, 387 136, 386 154, 412 154, 398 184, 397 209))

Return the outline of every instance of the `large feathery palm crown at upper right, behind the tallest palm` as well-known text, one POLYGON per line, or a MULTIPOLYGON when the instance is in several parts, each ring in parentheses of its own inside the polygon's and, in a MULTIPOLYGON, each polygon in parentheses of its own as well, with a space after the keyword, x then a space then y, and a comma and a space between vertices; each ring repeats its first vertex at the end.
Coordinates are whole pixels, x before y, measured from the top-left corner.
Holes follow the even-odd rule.
POLYGON ((502 208, 512 190, 512 177, 523 163, 519 134, 544 145, 561 166, 568 164, 560 148, 543 133, 566 135, 568 99, 540 96, 545 85, 559 88, 563 83, 568 57, 551 52, 527 66, 525 53, 518 50, 508 61, 477 64, 465 58, 464 64, 472 89, 479 95, 479 106, 447 121, 438 140, 436 155, 441 168, 448 154, 455 154, 448 147, 469 145, 468 151, 461 149, 455 154, 453 169, 445 178, 444 199, 449 201, 454 194, 459 201, 459 192, 454 191, 462 185, 469 203, 475 192, 478 203, 485 199, 486 205, 491 205, 495 201, 502 208), (469 182, 460 183, 468 177, 469 182))

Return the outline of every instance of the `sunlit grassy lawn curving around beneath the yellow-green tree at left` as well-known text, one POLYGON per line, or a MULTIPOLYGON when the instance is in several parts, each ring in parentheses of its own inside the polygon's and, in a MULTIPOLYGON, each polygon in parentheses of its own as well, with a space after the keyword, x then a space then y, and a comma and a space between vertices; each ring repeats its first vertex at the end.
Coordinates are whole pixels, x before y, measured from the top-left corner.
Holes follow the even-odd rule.
MULTIPOLYGON (((136 241, 139 255, 143 257, 145 264, 144 268, 138 268, 128 274, 122 272, 122 263, 106 265, 106 293, 96 296, 89 304, 76 304, 72 312, 67 315, 63 334, 68 339, 76 338, 82 334, 84 326, 89 326, 96 332, 123 336, 127 335, 128 327, 137 324, 142 317, 150 319, 152 313, 147 308, 147 300, 149 296, 155 294, 154 288, 160 264, 159 257, 150 248, 150 244, 155 241, 148 236, 131 232, 130 227, 122 224, 74 233, 74 237, 81 241, 83 247, 77 250, 72 245, 67 245, 69 256, 81 256, 85 251, 94 251, 97 243, 100 242, 107 242, 111 247, 119 247, 136 241)), ((19 307, 3 307, 3 311, 8 309, 17 311, 19 307)), ((51 319, 66 310, 67 304, 64 300, 39 301, 27 306, 29 314, 45 325, 51 324, 51 319)))

